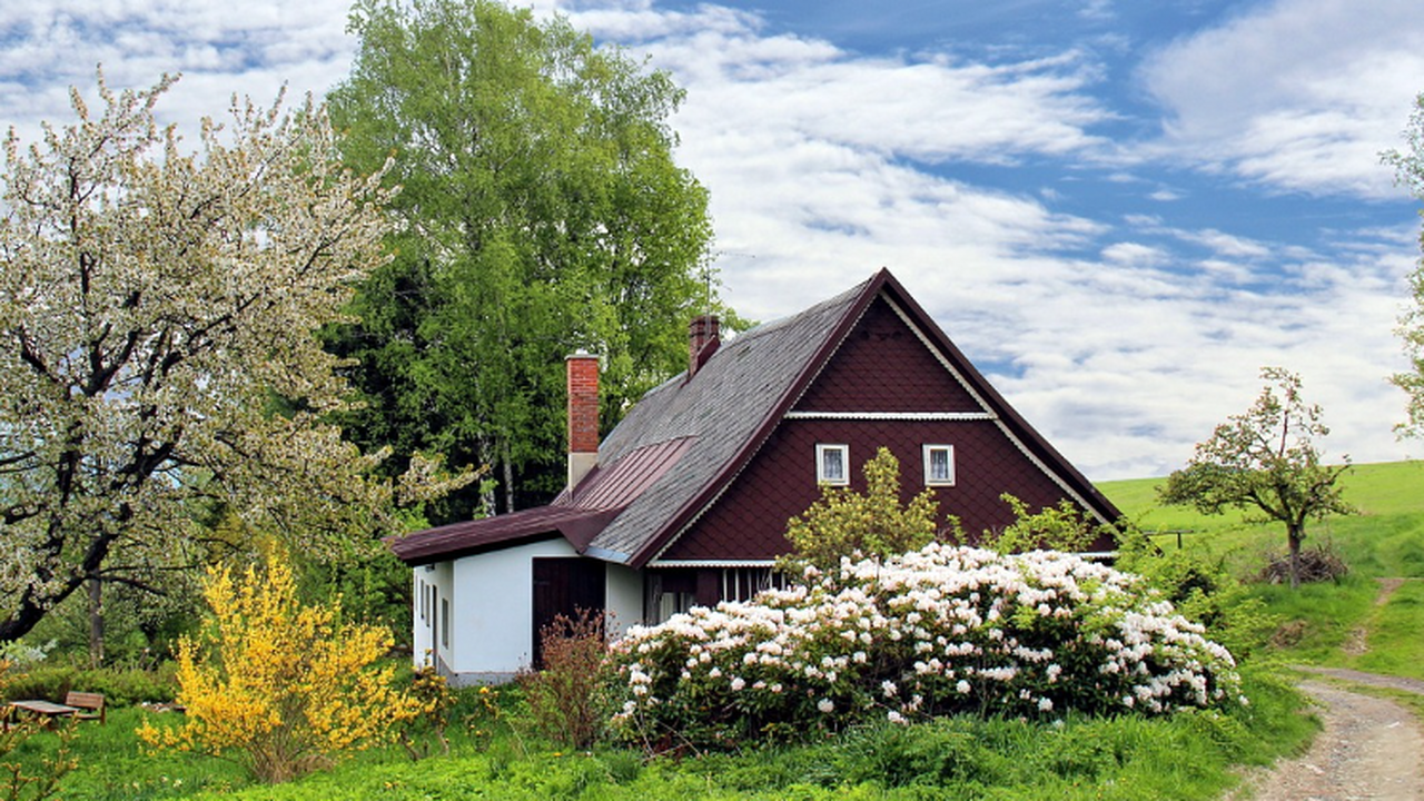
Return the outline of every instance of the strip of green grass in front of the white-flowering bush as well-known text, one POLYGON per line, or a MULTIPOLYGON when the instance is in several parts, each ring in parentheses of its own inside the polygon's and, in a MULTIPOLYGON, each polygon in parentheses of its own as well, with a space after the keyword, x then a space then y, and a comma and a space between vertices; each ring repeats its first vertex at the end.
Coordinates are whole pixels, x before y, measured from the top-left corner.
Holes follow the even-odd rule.
POLYGON ((1269 677, 1247 680, 1256 703, 1229 714, 1078 718, 1061 725, 951 718, 857 728, 824 743, 642 763, 628 751, 524 755, 497 748, 419 764, 353 763, 282 787, 201 800, 501 798, 713 800, 1139 800, 1210 798, 1236 782, 1235 764, 1266 764, 1299 747, 1313 721, 1269 677))

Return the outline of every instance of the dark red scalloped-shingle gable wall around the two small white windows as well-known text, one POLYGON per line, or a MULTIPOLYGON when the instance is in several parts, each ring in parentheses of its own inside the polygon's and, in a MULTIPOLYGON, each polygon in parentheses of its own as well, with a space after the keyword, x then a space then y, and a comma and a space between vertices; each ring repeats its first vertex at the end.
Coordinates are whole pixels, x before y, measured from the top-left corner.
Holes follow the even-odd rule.
MULTIPOLYGON (((796 409, 983 410, 883 299, 870 306, 796 409)), ((900 460, 904 499, 924 489, 921 446, 953 445, 956 486, 936 487, 934 495, 940 516, 958 516, 970 536, 1012 520, 998 497, 1004 492, 1032 509, 1065 497, 993 420, 787 419, 729 490, 659 559, 749 560, 785 553, 786 522, 820 497, 816 443, 850 446, 852 486, 859 490, 864 490, 864 462, 877 448, 890 448, 900 460)))

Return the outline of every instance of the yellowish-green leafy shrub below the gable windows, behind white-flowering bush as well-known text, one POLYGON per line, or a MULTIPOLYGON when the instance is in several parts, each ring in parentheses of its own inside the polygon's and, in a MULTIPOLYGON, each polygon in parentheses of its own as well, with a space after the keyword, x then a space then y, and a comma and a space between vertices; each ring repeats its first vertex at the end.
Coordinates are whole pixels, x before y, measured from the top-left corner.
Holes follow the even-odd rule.
MULTIPOLYGON (((934 490, 926 489, 904 503, 900 499, 900 460, 890 449, 879 449, 863 472, 864 493, 849 486, 823 486, 816 503, 786 522, 792 552, 783 557, 782 572, 796 574, 806 566, 830 570, 843 556, 899 556, 940 536, 934 490)), ((946 539, 958 539, 958 522, 953 517, 950 527, 951 536, 946 539)))

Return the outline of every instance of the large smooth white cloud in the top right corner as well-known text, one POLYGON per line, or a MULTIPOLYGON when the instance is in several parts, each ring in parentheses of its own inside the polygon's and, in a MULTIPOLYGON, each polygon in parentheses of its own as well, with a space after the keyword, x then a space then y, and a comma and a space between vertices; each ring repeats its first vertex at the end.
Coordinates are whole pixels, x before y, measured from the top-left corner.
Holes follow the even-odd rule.
POLYGON ((1155 54, 1159 145, 1277 190, 1397 197, 1378 153, 1424 90, 1413 0, 1274 0, 1155 54))

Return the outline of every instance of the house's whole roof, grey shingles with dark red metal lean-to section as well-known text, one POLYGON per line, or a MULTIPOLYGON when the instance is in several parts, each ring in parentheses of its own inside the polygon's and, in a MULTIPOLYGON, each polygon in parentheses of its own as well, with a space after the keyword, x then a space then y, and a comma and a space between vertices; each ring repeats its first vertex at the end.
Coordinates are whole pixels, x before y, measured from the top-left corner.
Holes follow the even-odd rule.
POLYGON ((1105 522, 1121 513, 990 386, 904 288, 869 281, 723 342, 689 379, 645 395, 600 445, 598 466, 550 506, 416 532, 390 547, 410 564, 564 536, 581 553, 642 567, 736 477, 881 292, 920 321, 933 348, 974 385, 1027 452, 1105 522))

